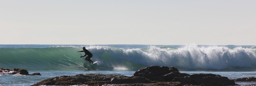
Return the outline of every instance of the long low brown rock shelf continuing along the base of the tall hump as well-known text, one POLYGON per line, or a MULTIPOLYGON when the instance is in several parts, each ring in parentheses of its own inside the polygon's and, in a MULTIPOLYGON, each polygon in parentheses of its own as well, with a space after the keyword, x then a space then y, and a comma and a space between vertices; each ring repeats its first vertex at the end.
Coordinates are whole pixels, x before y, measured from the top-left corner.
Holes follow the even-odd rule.
POLYGON ((182 86, 181 82, 152 82, 144 77, 127 77, 112 74, 79 74, 45 79, 38 85, 89 85, 89 86, 182 86))

